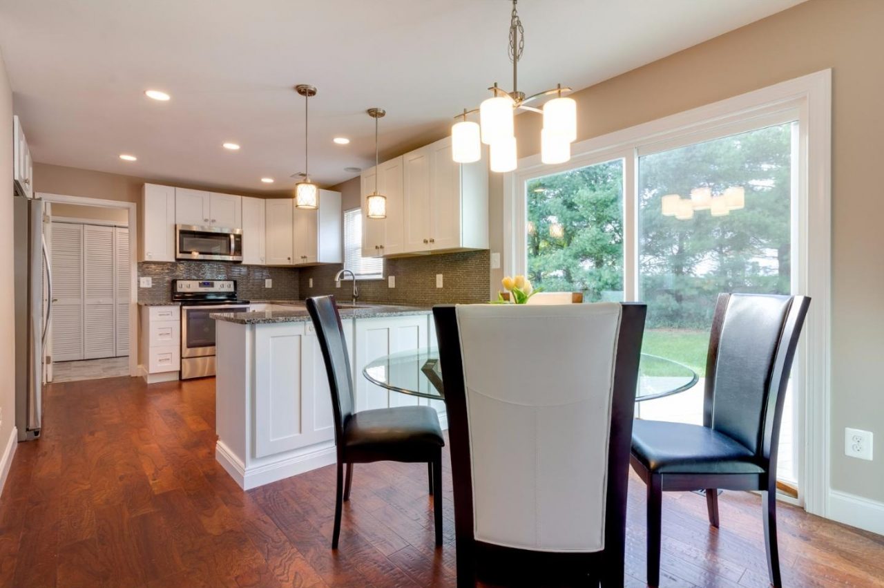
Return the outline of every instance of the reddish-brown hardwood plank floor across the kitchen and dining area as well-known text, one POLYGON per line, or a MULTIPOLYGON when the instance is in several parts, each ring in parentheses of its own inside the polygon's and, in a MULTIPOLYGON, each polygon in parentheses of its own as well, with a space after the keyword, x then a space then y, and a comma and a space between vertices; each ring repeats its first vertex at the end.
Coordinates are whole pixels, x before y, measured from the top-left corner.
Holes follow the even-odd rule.
MULTIPOLYGON (((331 552, 333 467, 248 493, 214 458, 214 380, 54 384, 43 437, 19 444, 0 498, 0 585, 451 586, 423 464, 357 465, 331 552)), ((757 496, 663 499, 663 586, 766 586, 757 496)), ((884 538, 780 509, 787 586, 884 586, 884 538)), ((644 585, 644 485, 629 486, 627 585, 644 585)))

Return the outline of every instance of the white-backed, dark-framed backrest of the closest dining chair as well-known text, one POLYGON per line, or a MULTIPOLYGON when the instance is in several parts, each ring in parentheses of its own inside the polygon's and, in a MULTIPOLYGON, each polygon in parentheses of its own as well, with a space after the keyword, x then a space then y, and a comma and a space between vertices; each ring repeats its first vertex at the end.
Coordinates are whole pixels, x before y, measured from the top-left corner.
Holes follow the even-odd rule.
POLYGON ((644 304, 438 306, 457 540, 622 550, 644 304))

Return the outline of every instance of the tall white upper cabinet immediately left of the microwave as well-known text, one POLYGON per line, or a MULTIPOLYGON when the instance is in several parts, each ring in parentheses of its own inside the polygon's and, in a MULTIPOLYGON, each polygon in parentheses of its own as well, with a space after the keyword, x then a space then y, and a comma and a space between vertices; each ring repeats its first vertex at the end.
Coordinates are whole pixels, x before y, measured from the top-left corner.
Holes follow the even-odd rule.
POLYGON ((145 184, 141 192, 141 262, 175 261, 175 188, 145 184))

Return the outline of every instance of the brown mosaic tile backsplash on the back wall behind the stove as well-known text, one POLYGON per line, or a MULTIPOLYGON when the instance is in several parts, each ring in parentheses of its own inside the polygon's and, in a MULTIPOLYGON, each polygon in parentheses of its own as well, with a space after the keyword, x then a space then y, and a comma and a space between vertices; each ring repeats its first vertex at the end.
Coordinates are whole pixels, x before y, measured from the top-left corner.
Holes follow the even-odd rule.
POLYGON ((173 279, 235 279, 241 300, 299 300, 298 270, 225 262, 141 262, 138 276, 150 277, 153 285, 138 289, 138 302, 169 302, 173 279), (273 280, 265 288, 264 279, 273 280))

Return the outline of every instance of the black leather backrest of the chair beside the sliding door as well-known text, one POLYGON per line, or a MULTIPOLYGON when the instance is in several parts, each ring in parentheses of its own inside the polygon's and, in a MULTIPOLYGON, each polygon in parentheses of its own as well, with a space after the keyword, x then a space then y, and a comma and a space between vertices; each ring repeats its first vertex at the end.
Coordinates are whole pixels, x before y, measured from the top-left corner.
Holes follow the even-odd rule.
POLYGON ((704 424, 776 462, 782 404, 807 296, 719 294, 706 357, 704 424))

